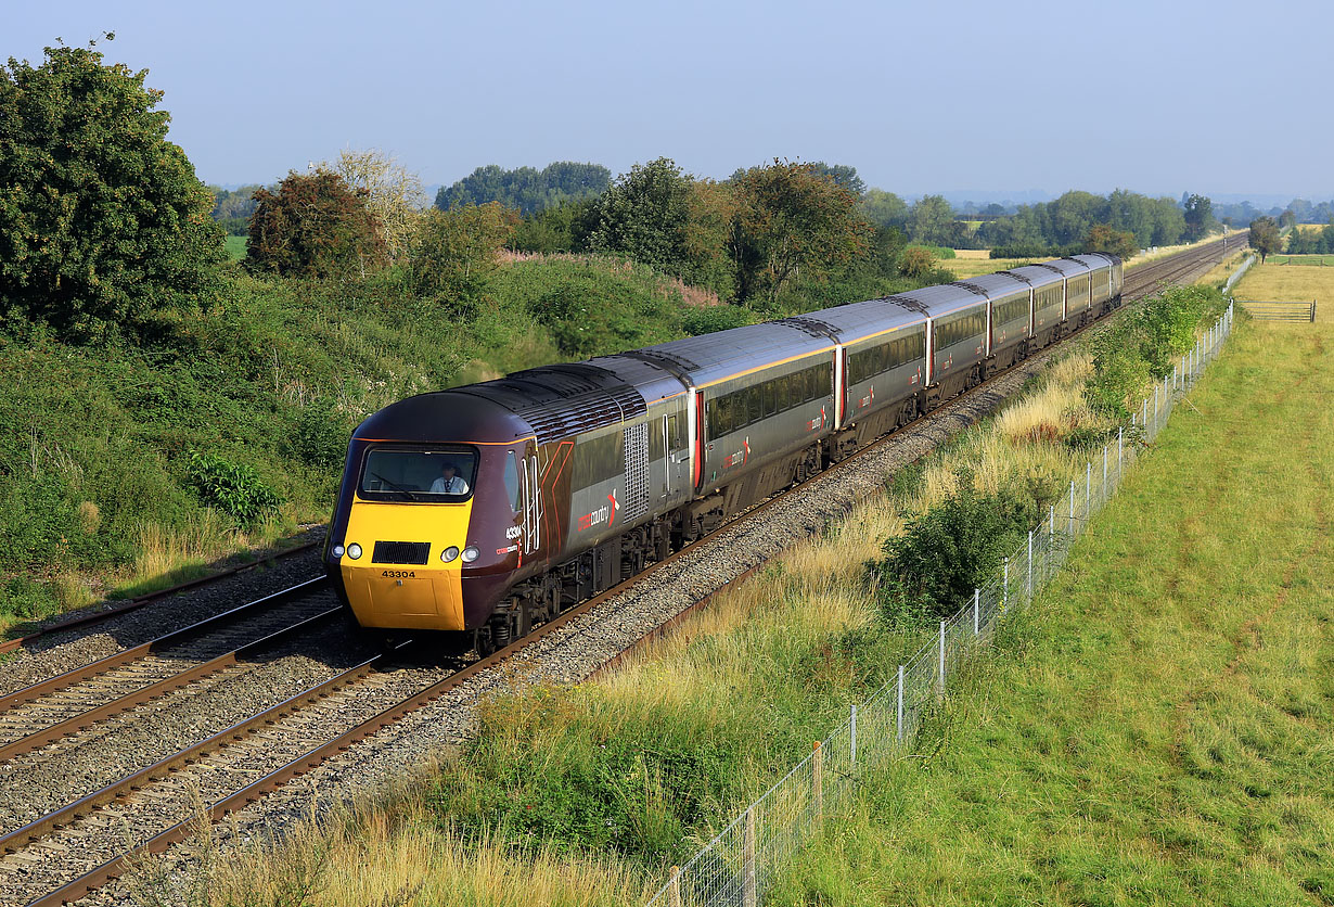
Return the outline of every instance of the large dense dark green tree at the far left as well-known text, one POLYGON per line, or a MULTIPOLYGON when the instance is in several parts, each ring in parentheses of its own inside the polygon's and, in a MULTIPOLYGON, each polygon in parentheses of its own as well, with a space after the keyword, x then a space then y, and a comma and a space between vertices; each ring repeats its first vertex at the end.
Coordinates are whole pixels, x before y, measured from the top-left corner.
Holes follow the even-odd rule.
POLYGON ((0 321, 88 340, 215 279, 213 196, 167 140, 147 75, 93 45, 0 67, 0 321))

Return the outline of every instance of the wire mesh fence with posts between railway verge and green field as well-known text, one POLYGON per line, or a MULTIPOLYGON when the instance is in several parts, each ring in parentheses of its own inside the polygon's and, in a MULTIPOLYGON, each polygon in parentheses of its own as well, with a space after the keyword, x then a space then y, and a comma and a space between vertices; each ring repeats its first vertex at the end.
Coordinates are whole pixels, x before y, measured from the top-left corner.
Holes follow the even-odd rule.
POLYGON ((848 719, 815 744, 792 767, 688 863, 648 902, 650 907, 756 907, 802 842, 819 832, 826 816, 852 794, 858 776, 908 752, 923 718, 944 696, 950 679, 976 647, 995 634, 1006 611, 1027 604, 1061 570, 1071 542, 1107 503, 1138 452, 1162 427, 1183 395, 1231 333, 1233 307, 1199 343, 1181 357, 1145 397, 1115 441, 1089 460, 1083 476, 1071 479, 1069 500, 1051 507, 1026 543, 1005 559, 1000 575, 942 620, 892 680, 852 706, 848 719))

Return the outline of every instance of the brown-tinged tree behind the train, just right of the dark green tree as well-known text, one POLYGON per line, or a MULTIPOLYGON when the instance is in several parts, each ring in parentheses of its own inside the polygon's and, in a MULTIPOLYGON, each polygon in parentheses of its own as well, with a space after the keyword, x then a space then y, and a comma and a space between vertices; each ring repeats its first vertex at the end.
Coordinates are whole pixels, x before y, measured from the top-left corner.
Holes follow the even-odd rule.
POLYGON ((811 164, 774 160, 734 176, 732 259, 743 300, 778 299, 798 275, 823 280, 864 253, 872 228, 856 197, 811 164))

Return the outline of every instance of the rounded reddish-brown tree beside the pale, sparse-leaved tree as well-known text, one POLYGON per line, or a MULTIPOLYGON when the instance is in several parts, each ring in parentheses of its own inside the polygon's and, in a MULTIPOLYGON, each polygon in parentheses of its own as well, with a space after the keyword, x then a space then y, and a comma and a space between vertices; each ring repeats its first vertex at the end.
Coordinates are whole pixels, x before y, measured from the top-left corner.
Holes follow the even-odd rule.
POLYGON ((327 169, 289 172, 276 191, 255 193, 245 264, 295 277, 366 275, 384 264, 379 219, 367 193, 327 169))

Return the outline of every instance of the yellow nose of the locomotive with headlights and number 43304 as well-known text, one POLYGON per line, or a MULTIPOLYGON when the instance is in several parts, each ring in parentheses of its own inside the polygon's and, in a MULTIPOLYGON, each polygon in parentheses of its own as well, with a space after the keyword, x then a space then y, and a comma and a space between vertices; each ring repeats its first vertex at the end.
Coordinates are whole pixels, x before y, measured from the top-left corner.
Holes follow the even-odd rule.
POLYGON ((358 623, 463 630, 459 552, 467 546, 471 510, 471 499, 456 504, 356 499, 339 567, 358 623), (352 558, 358 550, 360 556, 352 558))

